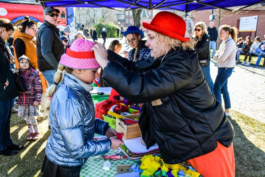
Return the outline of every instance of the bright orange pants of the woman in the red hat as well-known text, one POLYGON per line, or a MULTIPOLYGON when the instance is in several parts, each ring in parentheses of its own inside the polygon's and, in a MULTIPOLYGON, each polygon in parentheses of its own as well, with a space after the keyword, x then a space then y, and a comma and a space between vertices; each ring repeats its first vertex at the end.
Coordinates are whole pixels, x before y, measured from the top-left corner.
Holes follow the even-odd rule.
POLYGON ((214 151, 188 160, 188 163, 203 177, 234 177, 233 143, 227 148, 217 141, 217 147, 214 151))

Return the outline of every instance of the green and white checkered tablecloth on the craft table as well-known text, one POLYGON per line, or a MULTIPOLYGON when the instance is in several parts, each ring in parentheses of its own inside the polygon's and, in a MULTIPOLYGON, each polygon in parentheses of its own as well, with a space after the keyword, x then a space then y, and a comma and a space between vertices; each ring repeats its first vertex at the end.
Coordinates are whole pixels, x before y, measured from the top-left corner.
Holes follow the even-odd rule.
MULTIPOLYGON (((112 155, 114 153, 114 150, 110 150, 105 155, 112 155)), ((124 156, 122 153, 120 155, 124 156)), ((84 165, 81 167, 80 171, 80 177, 115 177, 117 175, 117 165, 133 165, 136 164, 135 161, 129 160, 129 159, 122 159, 122 160, 109 160, 111 163, 110 170, 103 170, 103 163, 105 160, 103 160, 103 156, 100 156, 99 158, 90 157, 84 165)), ((180 164, 184 166, 186 169, 188 169, 188 162, 184 162, 180 164)), ((187 174, 184 174, 184 176, 179 177, 190 177, 187 174)))

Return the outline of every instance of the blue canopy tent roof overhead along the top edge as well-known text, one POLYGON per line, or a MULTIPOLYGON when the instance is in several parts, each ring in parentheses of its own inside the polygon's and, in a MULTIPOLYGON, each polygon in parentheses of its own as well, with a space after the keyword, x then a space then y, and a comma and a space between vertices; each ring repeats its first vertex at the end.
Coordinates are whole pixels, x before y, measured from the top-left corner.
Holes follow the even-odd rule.
POLYGON ((182 12, 191 12, 195 10, 224 9, 227 11, 238 11, 243 8, 264 3, 261 0, 36 0, 43 7, 103 7, 118 11, 132 9, 148 10, 174 10, 182 12), (229 7, 241 6, 238 9, 229 9, 229 7), (242 7, 243 6, 243 7, 242 7))

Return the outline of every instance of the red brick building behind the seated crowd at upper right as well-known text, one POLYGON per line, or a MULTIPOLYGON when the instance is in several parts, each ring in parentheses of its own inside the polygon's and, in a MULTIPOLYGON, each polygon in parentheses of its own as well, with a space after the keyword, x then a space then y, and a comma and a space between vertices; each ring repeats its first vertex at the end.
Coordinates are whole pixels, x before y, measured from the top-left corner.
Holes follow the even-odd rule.
MULTIPOLYGON (((194 11, 191 13, 191 15, 195 18, 194 24, 197 22, 205 22, 207 27, 209 26, 209 23, 211 22, 209 20, 209 16, 212 14, 212 10, 203 10, 203 11, 194 11)), ((218 10, 214 10, 214 14, 218 14, 218 10)), ((248 8, 248 9, 242 9, 240 11, 236 12, 228 12, 223 11, 221 19, 221 25, 227 24, 230 26, 236 26, 239 29, 239 22, 240 17, 249 17, 249 16, 256 16, 258 15, 258 25, 257 25, 257 31, 255 32, 240 32, 239 37, 243 37, 243 39, 246 36, 251 36, 251 39, 254 40, 256 36, 259 36, 261 40, 264 40, 265 35, 265 6, 262 7, 256 7, 256 8, 248 8)), ((216 20, 213 20, 214 26, 218 29, 218 22, 216 20)))

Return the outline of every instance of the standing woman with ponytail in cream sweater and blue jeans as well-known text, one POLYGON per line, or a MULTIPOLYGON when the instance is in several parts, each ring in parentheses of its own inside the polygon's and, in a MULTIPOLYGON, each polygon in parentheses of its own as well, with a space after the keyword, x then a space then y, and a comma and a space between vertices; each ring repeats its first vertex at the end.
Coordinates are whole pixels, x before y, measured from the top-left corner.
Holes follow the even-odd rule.
POLYGON ((227 90, 227 80, 235 67, 237 32, 236 27, 230 27, 229 25, 220 26, 218 33, 223 42, 213 56, 213 60, 217 61, 216 66, 218 67, 213 93, 220 103, 222 103, 221 94, 223 94, 226 116, 230 116, 229 109, 231 105, 227 90))

